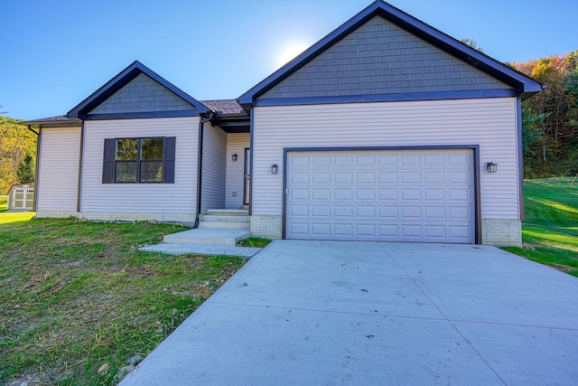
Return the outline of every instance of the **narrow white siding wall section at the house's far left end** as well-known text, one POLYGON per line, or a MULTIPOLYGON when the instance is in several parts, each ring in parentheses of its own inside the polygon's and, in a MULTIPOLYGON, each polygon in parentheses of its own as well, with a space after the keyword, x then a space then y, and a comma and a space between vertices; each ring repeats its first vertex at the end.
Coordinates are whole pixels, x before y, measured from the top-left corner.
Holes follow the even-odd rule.
POLYGON ((80 127, 44 127, 38 170, 38 212, 76 212, 80 127))

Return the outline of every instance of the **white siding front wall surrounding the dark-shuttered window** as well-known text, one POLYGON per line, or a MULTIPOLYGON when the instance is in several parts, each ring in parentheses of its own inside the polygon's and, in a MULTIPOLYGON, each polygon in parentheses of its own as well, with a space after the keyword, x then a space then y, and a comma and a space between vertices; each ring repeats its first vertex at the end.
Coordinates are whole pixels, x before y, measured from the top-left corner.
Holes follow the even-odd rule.
POLYGON ((198 117, 86 121, 80 212, 194 213, 198 131, 198 117), (174 184, 102 184, 105 138, 130 137, 176 137, 174 184))

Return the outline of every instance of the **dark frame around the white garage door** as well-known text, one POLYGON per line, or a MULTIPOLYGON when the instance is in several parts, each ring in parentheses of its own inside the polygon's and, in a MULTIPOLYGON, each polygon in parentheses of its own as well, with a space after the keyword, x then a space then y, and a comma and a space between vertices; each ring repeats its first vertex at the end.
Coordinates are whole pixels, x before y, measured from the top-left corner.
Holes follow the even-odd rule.
POLYGON ((356 147, 284 147, 283 149, 283 214, 281 237, 286 236, 287 226, 287 158, 288 153, 297 152, 347 152, 347 151, 380 151, 380 150, 471 150, 473 165, 473 213, 474 244, 481 244, 481 193, 480 193, 480 145, 447 145, 447 146, 356 146, 356 147))

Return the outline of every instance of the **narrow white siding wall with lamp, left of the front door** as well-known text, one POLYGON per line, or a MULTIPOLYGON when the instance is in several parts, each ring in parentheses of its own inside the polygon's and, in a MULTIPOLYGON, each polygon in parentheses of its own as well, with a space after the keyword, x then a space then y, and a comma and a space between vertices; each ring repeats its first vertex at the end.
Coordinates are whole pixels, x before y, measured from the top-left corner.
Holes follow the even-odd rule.
POLYGON ((249 133, 231 133, 227 135, 227 182, 225 185, 225 207, 238 209, 243 205, 243 187, 245 175, 245 148, 249 146, 249 133), (237 161, 231 156, 236 154, 237 161), (235 196, 233 196, 235 192, 235 196))

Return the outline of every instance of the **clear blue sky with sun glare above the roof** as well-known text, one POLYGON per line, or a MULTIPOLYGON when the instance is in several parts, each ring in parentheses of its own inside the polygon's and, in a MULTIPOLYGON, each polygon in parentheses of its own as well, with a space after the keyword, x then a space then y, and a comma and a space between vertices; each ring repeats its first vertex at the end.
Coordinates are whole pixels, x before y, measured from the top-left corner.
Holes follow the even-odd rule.
MULTIPOLYGON (((200 100, 233 99, 370 0, 0 0, 0 111, 66 113, 132 61, 200 100)), ((391 0, 499 61, 578 49, 576 0, 391 0)))

